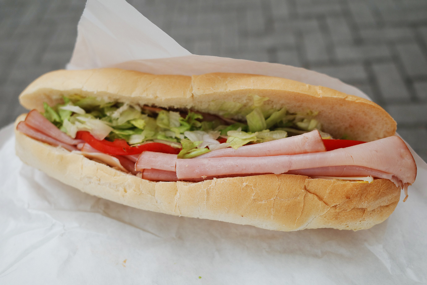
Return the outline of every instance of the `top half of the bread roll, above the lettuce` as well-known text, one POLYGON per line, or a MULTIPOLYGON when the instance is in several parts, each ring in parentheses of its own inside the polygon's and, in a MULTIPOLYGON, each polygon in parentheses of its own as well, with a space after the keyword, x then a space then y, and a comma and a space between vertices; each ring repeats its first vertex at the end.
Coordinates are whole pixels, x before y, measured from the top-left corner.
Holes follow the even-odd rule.
MULTIPOLYGON (((240 73, 208 73, 196 76, 153 75, 103 68, 82 71, 58 70, 32 82, 21 94, 27 109, 43 111, 43 102, 60 103, 62 96, 80 94, 105 100, 187 108, 221 115, 214 102, 253 105, 254 95, 268 97, 264 105, 286 107, 289 112, 319 112, 316 119, 334 138, 346 135, 373 141, 394 135, 396 122, 377 104, 322 86, 289 79, 240 73)), ((233 118, 233 117, 232 117, 233 118)), ((239 115, 234 115, 236 119, 239 115)))

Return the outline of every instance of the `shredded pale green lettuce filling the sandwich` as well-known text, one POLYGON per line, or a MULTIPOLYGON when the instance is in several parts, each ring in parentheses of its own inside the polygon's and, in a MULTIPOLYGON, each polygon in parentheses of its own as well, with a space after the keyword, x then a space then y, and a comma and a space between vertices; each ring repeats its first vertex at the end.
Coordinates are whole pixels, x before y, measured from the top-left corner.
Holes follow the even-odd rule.
POLYGON ((246 117, 246 122, 224 124, 221 118, 204 121, 202 114, 188 111, 149 112, 138 105, 108 102, 97 97, 82 97, 73 94, 63 97, 64 102, 56 106, 44 103, 44 116, 71 137, 80 130, 89 131, 97 139, 125 139, 129 144, 145 141, 169 141, 183 146, 179 155, 190 158, 225 147, 240 146, 286 138, 318 129, 323 138, 331 138, 321 131, 322 125, 316 120, 317 112, 290 113, 286 108, 274 109, 264 104, 268 97, 250 95, 252 106, 242 103, 214 100, 208 109, 223 116, 246 117), (220 144, 219 136, 227 138, 220 144))

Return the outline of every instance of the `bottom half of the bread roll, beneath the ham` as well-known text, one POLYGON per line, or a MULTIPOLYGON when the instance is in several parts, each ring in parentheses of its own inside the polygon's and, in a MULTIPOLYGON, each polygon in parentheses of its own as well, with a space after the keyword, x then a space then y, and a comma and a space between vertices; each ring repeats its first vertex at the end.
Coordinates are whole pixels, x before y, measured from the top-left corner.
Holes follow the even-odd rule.
POLYGON ((383 222, 400 199, 400 188, 387 179, 367 183, 266 174, 197 183, 152 182, 16 130, 15 134, 16 153, 27 165, 85 193, 164 214, 278 231, 358 230, 383 222))

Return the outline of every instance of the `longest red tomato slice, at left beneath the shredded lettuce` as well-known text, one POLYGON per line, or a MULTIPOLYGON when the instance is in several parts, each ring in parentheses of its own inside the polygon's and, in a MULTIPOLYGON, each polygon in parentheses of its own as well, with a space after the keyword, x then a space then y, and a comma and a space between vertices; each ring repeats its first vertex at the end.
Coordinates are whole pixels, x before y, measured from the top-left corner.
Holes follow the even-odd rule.
POLYGON ((113 156, 129 156, 133 154, 142 153, 143 151, 154 151, 156 153, 171 153, 178 154, 181 149, 171 147, 167 144, 161 143, 147 143, 140 144, 136 147, 131 147, 125 140, 116 139, 114 141, 102 140, 99 141, 91 135, 90 132, 79 131, 77 132, 76 138, 82 139, 87 142, 91 147, 102 153, 107 153, 113 156))

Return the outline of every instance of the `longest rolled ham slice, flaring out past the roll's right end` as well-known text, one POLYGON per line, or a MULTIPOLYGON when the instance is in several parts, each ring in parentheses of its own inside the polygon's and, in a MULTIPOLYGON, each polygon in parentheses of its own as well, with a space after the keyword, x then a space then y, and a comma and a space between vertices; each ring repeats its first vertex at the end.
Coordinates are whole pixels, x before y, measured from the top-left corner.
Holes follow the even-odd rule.
MULTIPOLYGON (((169 163, 172 163, 171 160, 169 163)), ((178 179, 243 173, 286 173, 295 169, 356 165, 390 173, 403 183, 416 176, 415 161, 398 136, 328 152, 263 157, 177 159, 178 179)), ((155 168, 155 167, 152 167, 155 168)))

